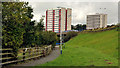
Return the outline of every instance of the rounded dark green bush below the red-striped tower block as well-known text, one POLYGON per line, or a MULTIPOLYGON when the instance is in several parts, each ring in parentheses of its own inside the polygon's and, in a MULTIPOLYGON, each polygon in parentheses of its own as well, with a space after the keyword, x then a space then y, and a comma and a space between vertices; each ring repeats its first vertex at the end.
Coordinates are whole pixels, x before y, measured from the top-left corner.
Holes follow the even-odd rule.
POLYGON ((41 31, 35 33, 35 42, 36 46, 42 45, 52 45, 53 47, 56 45, 58 38, 56 33, 51 31, 41 31))

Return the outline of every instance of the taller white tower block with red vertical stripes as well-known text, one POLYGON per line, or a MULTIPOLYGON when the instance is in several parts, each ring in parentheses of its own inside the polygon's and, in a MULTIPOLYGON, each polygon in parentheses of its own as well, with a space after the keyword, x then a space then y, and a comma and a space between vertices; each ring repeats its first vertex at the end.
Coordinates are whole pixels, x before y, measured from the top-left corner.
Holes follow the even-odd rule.
POLYGON ((60 32, 71 30, 71 13, 70 8, 53 8, 46 10, 46 31, 60 32))

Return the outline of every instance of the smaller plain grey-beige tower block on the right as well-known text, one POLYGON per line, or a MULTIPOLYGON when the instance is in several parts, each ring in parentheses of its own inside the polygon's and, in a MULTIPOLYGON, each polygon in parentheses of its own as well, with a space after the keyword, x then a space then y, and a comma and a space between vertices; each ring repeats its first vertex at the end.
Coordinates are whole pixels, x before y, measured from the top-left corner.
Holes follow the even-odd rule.
POLYGON ((107 27, 107 14, 87 15, 86 29, 107 27))

